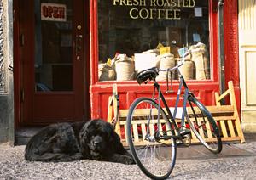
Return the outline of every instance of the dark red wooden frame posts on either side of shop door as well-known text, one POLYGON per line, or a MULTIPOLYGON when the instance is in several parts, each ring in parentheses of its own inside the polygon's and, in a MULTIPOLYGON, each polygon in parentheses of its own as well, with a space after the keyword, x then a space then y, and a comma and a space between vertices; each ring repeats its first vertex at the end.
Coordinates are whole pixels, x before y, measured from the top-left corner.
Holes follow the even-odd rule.
MULTIPOLYGON (((20 37, 20 4, 23 0, 17 0, 13 2, 14 11, 14 101, 15 101, 15 129, 23 127, 22 121, 22 67, 20 59, 20 43, 22 38, 20 37)), ((26 6, 31 6, 32 3, 26 3, 26 6)), ((89 33, 89 1, 83 1, 83 20, 84 20, 84 119, 90 118, 90 33, 89 33), (86 41, 85 41, 86 40, 86 41)), ((26 31, 32 31, 31 28, 27 28, 26 31)), ((26 126, 26 125, 25 125, 26 126)))

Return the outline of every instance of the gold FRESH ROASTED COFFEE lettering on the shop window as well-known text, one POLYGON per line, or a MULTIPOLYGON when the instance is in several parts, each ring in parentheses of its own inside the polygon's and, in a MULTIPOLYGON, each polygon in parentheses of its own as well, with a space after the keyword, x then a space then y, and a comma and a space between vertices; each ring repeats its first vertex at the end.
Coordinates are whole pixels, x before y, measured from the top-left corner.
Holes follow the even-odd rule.
POLYGON ((195 0, 113 0, 113 6, 131 7, 134 20, 181 20, 181 8, 194 8, 195 0))

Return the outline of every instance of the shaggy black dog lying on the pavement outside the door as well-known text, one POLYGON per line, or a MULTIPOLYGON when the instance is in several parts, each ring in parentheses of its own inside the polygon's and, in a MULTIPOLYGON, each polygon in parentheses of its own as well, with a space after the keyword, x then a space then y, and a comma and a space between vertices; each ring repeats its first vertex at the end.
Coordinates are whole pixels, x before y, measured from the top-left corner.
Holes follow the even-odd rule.
POLYGON ((104 160, 134 164, 110 123, 100 119, 44 127, 26 144, 26 160, 104 160))

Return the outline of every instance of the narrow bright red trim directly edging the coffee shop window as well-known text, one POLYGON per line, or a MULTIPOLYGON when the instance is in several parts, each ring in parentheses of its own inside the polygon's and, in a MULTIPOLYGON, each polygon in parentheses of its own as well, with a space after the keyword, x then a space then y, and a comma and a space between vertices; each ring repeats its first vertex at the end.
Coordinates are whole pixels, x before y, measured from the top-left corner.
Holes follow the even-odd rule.
MULTIPOLYGON (((216 1, 209 0, 209 45, 210 45, 210 66, 212 77, 210 80, 189 81, 191 84, 218 82, 218 13, 216 1)), ((97 0, 90 0, 90 84, 106 85, 109 83, 137 84, 136 81, 98 81, 98 20, 97 0)))

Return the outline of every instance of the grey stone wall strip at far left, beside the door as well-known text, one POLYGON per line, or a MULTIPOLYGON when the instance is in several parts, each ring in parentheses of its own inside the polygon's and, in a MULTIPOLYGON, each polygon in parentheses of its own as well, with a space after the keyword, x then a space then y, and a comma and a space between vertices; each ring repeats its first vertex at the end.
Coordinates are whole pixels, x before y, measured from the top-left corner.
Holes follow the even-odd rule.
POLYGON ((0 143, 14 142, 12 12, 12 0, 0 0, 0 143))

